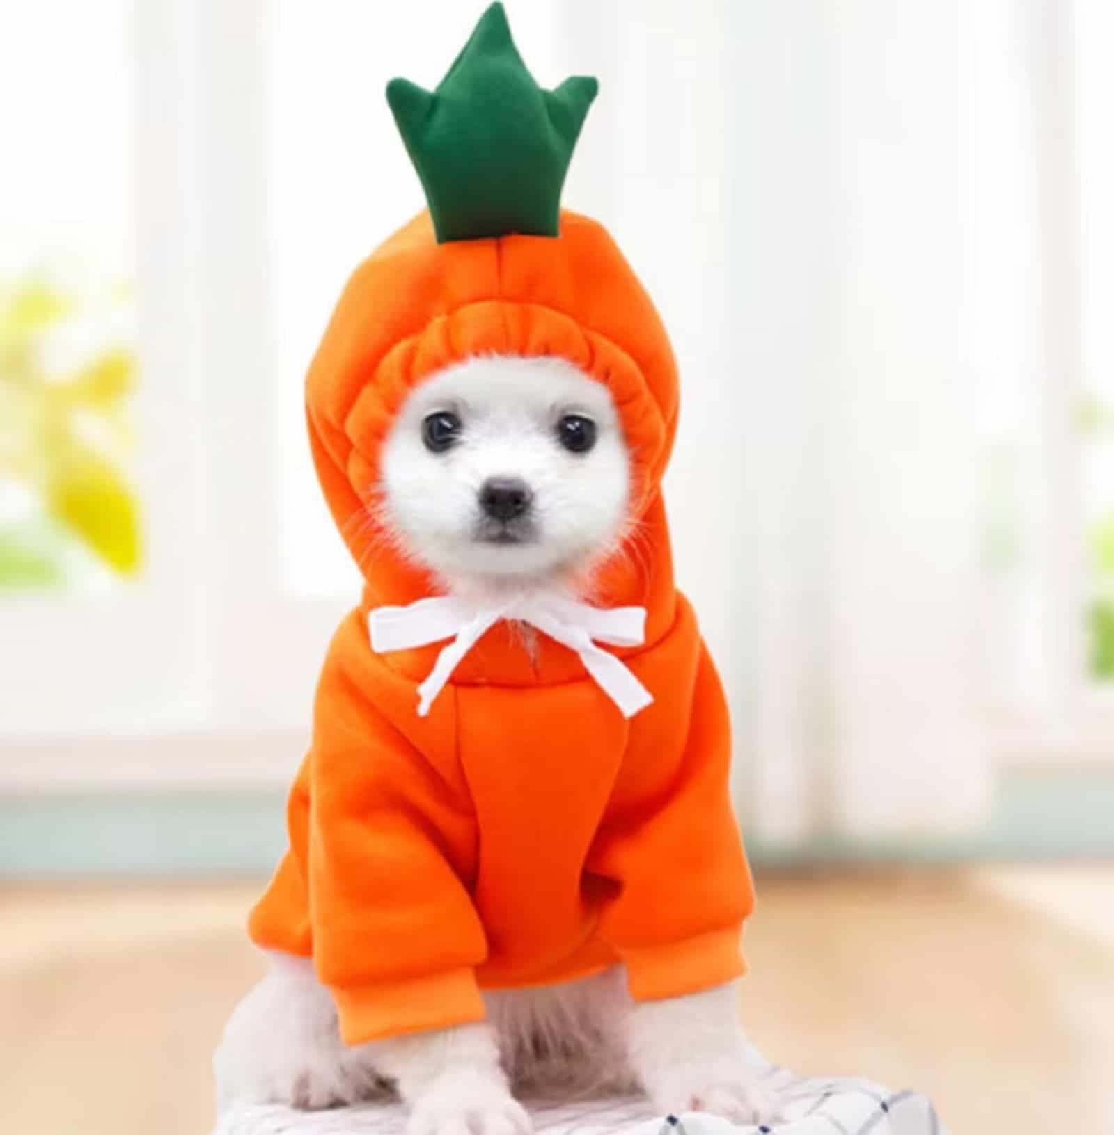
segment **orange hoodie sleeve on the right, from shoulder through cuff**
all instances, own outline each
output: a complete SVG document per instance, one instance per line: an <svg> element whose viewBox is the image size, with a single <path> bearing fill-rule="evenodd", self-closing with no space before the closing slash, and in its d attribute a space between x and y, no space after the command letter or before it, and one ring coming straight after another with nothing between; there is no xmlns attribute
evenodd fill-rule
<svg viewBox="0 0 1114 1135"><path fill-rule="evenodd" d="M639 777L593 849L592 869L618 884L601 932L637 1000L695 993L746 968L742 927L754 891L731 808L727 705L703 641L696 647L687 730L677 745L668 725L640 734L645 751L629 753L628 767L654 775ZM660 698L653 708L670 717L685 707Z"/></svg>

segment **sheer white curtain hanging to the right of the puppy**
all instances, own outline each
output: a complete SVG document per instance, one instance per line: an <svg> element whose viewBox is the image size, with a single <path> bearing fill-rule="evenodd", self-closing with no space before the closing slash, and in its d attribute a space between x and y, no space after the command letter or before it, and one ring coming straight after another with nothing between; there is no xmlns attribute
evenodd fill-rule
<svg viewBox="0 0 1114 1135"><path fill-rule="evenodd" d="M971 831L992 767L966 17L604 10L563 6L569 61L603 78L586 152L610 151L569 200L617 232L680 356L678 572L730 691L747 831Z"/></svg>

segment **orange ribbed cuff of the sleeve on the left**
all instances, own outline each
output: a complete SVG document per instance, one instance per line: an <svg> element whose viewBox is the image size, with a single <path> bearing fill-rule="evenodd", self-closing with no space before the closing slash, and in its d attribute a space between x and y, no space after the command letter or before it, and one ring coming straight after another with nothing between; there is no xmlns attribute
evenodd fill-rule
<svg viewBox="0 0 1114 1135"><path fill-rule="evenodd" d="M470 968L430 977L333 989L345 1044L366 1044L484 1019L484 1002Z"/></svg>

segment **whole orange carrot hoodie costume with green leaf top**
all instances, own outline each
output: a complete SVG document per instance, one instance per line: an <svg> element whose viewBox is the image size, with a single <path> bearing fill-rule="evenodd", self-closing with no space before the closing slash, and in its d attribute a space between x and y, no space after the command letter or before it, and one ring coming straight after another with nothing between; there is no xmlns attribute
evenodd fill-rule
<svg viewBox="0 0 1114 1135"><path fill-rule="evenodd" d="M476 98L493 89L499 99ZM727 711L673 586L659 488L675 361L608 233L556 212L594 94L579 78L541 91L499 5L435 94L395 81L392 109L433 216L357 269L310 369L318 474L366 586L329 648L290 850L250 932L313 959L350 1044L479 1019L480 989L618 961L638 999L744 968L753 890L729 800ZM446 188L476 169L497 183L492 194ZM493 208L516 176L517 193ZM495 216L512 205L510 222ZM480 353L561 356L619 407L642 523L637 550L602 569L596 599L645 608L645 641L609 650L653 698L637 712L576 650L542 633L528 651L505 621L464 653L427 716L417 688L444 644L372 649L369 615L436 589L353 518L407 394Z"/></svg>

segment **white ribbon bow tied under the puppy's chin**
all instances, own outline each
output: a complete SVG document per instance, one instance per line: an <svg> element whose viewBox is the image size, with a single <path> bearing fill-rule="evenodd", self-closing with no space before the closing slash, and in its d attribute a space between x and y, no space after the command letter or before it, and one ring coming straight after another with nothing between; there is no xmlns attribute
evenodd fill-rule
<svg viewBox="0 0 1114 1135"><path fill-rule="evenodd" d="M605 609L554 597L517 599L496 607L474 607L446 595L418 599L405 607L377 607L368 616L368 629L371 649L376 654L452 639L418 687L418 716L425 717L460 659L501 619L529 623L570 650L576 650L585 670L614 701L623 717L633 717L654 700L650 690L613 654L593 641L598 639L612 646L642 646L646 637L645 607Z"/></svg>

